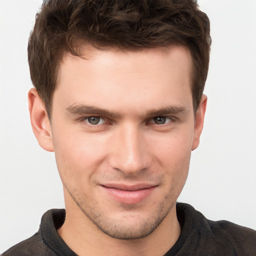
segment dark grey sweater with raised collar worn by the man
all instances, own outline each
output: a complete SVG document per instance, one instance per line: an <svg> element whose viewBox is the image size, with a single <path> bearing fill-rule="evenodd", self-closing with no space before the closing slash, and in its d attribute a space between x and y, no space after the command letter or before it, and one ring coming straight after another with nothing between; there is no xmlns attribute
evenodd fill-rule
<svg viewBox="0 0 256 256"><path fill-rule="evenodd" d="M177 203L181 233L166 256L255 256L256 231L229 221L211 221L186 203ZM46 211L38 232L12 246L2 256L75 256L58 235L65 220L64 209Z"/></svg>

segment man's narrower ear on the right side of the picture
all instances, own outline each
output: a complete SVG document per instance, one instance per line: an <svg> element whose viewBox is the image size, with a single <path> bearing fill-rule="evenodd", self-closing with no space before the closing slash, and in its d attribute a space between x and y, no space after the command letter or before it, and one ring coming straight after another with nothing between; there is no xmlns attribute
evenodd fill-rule
<svg viewBox="0 0 256 256"><path fill-rule="evenodd" d="M194 150L195 148L197 148L200 142L200 135L203 128L206 104L207 104L207 96L203 94L201 97L200 103L197 107L197 110L195 112L194 136L193 136L193 143L192 143L191 150Z"/></svg>

